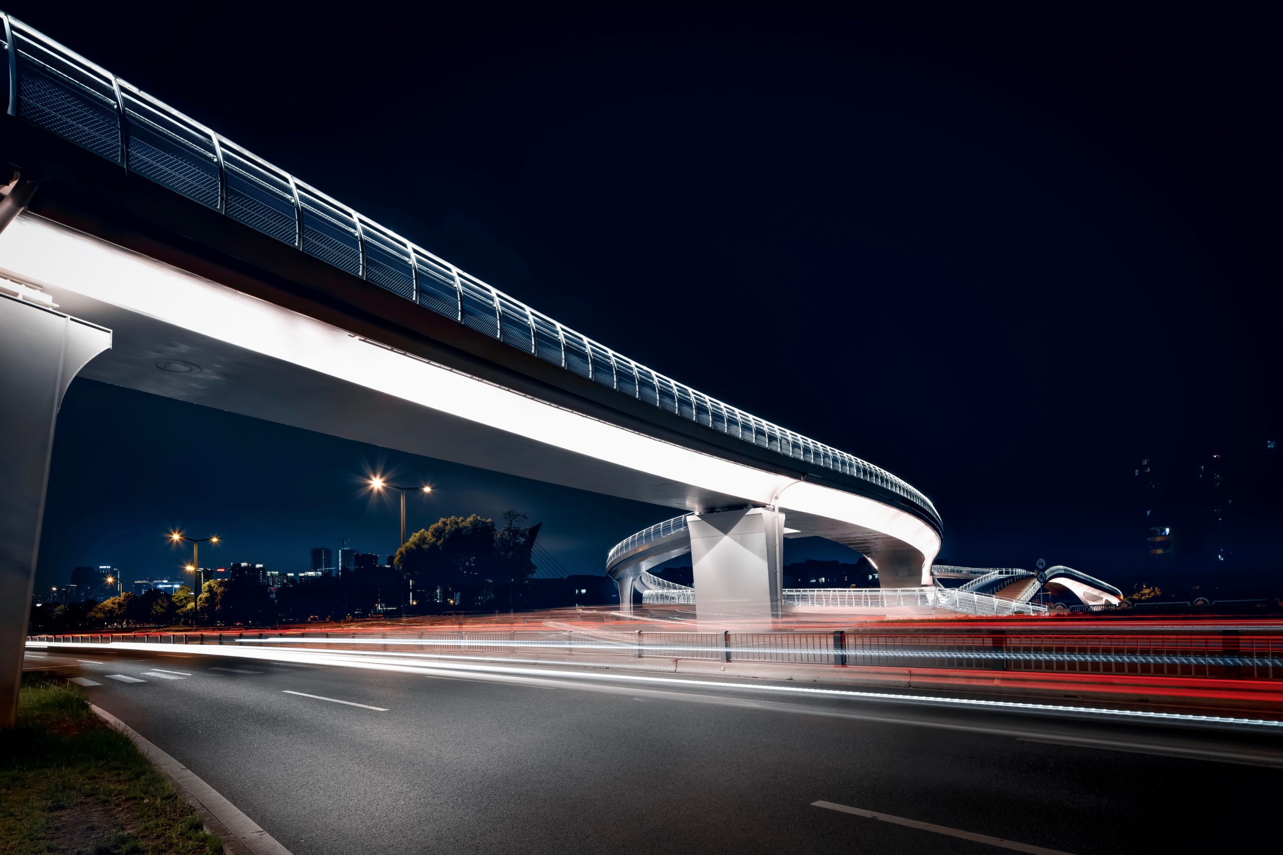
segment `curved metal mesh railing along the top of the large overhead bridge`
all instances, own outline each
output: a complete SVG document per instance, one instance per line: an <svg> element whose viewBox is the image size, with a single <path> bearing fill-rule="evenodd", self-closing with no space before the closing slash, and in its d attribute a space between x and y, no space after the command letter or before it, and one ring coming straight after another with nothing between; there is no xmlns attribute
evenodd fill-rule
<svg viewBox="0 0 1283 855"><path fill-rule="evenodd" d="M458 269L396 232L0 13L9 115L425 309L690 422L876 485L937 527L920 491L854 455L703 395Z"/></svg>

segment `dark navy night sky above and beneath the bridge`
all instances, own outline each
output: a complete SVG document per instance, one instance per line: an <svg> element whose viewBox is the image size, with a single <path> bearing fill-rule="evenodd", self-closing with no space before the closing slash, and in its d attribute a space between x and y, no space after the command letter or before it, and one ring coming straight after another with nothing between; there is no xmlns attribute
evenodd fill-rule
<svg viewBox="0 0 1283 855"><path fill-rule="evenodd" d="M946 520L942 561L1161 581L1133 470L1221 454L1216 569L1273 578L1265 12L263 5L9 10L580 332L905 477ZM218 529L228 560L386 552L393 514L352 482L380 460L441 483L416 519L517 508L575 570L670 515L81 381L42 582L150 573L169 524Z"/></svg>

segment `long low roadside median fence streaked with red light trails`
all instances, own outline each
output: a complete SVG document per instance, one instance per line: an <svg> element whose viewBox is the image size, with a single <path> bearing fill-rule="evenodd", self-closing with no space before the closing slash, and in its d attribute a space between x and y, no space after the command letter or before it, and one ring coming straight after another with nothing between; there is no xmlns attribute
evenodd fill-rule
<svg viewBox="0 0 1283 855"><path fill-rule="evenodd" d="M167 643L364 650L548 663L570 658L715 659L1014 672L1283 679L1283 635L1023 631L887 632L189 632L30 636L30 643ZM622 661L622 660L620 660Z"/></svg>

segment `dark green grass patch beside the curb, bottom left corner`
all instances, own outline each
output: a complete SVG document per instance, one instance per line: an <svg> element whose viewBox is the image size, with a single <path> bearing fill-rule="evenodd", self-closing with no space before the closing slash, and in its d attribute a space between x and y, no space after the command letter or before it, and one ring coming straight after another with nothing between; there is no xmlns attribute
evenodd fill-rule
<svg viewBox="0 0 1283 855"><path fill-rule="evenodd" d="M92 831L89 831L90 827ZM208 855L222 841L69 686L30 681L18 724L0 731L0 852Z"/></svg>

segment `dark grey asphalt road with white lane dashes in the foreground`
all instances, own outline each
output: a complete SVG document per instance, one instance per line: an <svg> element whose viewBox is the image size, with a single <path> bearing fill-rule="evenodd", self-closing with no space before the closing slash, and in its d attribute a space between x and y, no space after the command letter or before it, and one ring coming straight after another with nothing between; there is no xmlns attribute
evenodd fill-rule
<svg viewBox="0 0 1283 855"><path fill-rule="evenodd" d="M1236 851L1283 784L1283 735L571 668L65 655L295 855L1010 851L815 801L1074 855Z"/></svg>

